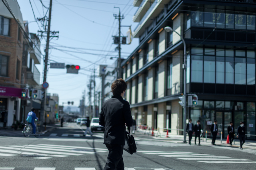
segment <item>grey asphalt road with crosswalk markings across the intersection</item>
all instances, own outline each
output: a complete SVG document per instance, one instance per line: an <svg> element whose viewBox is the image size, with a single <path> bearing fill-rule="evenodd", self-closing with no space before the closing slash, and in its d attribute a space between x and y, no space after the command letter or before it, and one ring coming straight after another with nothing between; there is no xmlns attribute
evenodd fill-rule
<svg viewBox="0 0 256 170"><path fill-rule="evenodd" d="M108 150L103 133L65 123L35 138L0 137L0 170L103 170ZM256 150L198 146L134 135L137 153L124 151L126 170L255 170Z"/></svg>

